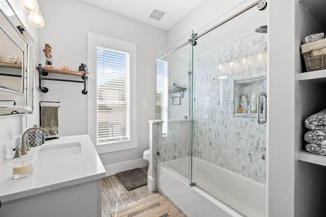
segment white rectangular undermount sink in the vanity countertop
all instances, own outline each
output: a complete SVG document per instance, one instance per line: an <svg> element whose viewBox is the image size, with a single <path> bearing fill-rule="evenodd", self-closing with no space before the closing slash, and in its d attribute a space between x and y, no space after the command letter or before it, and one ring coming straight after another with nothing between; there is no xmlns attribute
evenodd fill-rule
<svg viewBox="0 0 326 217"><path fill-rule="evenodd" d="M44 160L72 156L80 153L82 153L82 146L80 145L80 142L72 142L41 146L40 149L33 155L34 160Z"/></svg>

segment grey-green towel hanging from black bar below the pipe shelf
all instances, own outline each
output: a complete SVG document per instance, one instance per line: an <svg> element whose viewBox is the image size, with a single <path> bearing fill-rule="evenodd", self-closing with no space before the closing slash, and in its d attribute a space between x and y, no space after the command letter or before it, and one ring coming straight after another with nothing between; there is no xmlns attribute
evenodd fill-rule
<svg viewBox="0 0 326 217"><path fill-rule="evenodd" d="M58 106L41 106L41 127L45 128L51 137L59 136Z"/></svg>

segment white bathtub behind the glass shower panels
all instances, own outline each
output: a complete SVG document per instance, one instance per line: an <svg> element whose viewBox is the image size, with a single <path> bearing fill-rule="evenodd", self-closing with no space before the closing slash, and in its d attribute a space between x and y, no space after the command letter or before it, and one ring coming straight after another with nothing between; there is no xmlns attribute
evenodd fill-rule
<svg viewBox="0 0 326 217"><path fill-rule="evenodd" d="M188 157L157 165L157 189L188 217L266 216L265 184L193 157L190 187L188 165Z"/></svg>

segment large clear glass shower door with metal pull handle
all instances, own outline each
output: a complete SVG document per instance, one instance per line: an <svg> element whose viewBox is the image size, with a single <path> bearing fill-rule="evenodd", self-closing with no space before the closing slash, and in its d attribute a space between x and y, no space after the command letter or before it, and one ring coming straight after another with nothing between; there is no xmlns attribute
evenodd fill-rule
<svg viewBox="0 0 326 217"><path fill-rule="evenodd" d="M194 46L193 182L246 216L266 215L266 23L254 7Z"/></svg>

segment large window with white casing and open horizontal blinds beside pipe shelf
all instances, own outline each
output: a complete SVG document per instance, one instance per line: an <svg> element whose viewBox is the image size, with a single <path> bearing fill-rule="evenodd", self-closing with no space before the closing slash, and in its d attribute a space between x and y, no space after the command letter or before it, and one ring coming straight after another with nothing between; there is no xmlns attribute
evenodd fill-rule
<svg viewBox="0 0 326 217"><path fill-rule="evenodd" d="M87 133L97 153L138 148L137 45L87 33Z"/></svg>

